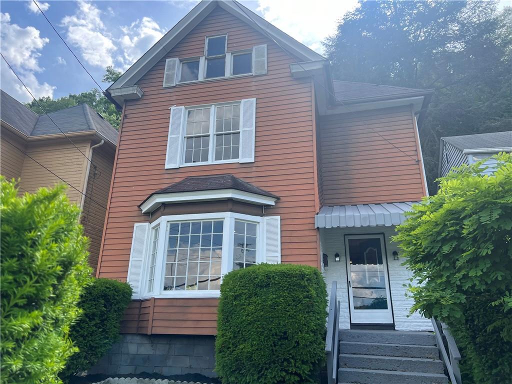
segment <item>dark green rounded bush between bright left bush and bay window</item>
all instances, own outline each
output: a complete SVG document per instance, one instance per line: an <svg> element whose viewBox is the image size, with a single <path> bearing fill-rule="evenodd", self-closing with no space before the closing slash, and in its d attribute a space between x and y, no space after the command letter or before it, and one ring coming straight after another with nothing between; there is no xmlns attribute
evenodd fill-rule
<svg viewBox="0 0 512 384"><path fill-rule="evenodd" d="M62 376L94 366L119 338L124 310L132 300L132 287L117 280L94 279L80 297L82 310L71 327L70 338L79 351L68 360Z"/></svg>

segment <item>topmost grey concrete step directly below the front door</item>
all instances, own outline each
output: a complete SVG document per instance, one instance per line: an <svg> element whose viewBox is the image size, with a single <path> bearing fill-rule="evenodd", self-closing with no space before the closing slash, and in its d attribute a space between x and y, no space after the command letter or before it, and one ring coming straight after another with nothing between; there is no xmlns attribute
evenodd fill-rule
<svg viewBox="0 0 512 384"><path fill-rule="evenodd" d="M420 331L342 329L339 331L339 339L343 342L359 343L436 345L436 338L432 332Z"/></svg>

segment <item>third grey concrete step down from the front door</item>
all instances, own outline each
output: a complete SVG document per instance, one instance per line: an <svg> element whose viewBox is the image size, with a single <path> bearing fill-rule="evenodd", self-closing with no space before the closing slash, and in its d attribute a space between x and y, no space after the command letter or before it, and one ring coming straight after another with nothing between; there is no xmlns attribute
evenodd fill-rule
<svg viewBox="0 0 512 384"><path fill-rule="evenodd" d="M380 369L383 371L444 373L441 360L417 357L339 355L339 368Z"/></svg>

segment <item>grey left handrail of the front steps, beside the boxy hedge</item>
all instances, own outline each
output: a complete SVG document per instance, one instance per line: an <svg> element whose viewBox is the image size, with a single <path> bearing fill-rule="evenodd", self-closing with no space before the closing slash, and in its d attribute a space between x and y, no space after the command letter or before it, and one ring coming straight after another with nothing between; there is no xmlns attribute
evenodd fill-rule
<svg viewBox="0 0 512 384"><path fill-rule="evenodd" d="M329 313L327 316L327 334L325 351L327 352L327 382L335 384L338 376L338 347L339 347L339 301L336 297L337 283L331 286L329 296Z"/></svg>

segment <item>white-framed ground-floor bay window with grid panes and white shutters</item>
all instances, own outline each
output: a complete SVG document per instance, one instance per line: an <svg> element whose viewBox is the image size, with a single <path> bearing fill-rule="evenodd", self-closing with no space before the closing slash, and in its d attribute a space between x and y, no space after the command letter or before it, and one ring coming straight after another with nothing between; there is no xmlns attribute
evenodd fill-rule
<svg viewBox="0 0 512 384"><path fill-rule="evenodd" d="M281 262L280 230L279 216L219 212L160 217L148 229L147 246L132 245L131 254L145 256L140 275L132 273L129 283L141 287L136 298L218 297L229 271Z"/></svg>

